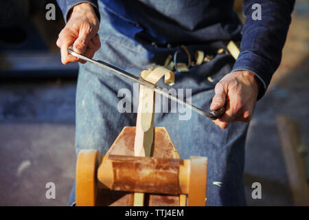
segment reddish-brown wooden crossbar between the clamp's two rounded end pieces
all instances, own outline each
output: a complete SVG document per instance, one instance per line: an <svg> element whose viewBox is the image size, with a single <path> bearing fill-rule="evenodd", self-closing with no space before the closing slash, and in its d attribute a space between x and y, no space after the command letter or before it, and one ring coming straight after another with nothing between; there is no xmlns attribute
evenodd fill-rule
<svg viewBox="0 0 309 220"><path fill-rule="evenodd" d="M189 173L179 178L179 170L189 165L178 158L105 155L98 168L99 186L116 191L186 194L182 190L187 189Z"/></svg>

